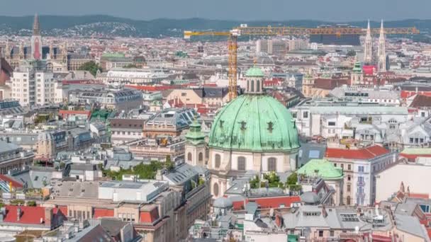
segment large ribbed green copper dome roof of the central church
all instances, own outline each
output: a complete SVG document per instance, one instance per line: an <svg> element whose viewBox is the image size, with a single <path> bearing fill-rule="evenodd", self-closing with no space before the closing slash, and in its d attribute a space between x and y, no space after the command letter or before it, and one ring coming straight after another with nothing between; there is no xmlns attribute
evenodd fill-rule
<svg viewBox="0 0 431 242"><path fill-rule="evenodd" d="M220 110L208 145L237 151L296 151L300 147L289 110L270 96L249 94Z"/></svg>

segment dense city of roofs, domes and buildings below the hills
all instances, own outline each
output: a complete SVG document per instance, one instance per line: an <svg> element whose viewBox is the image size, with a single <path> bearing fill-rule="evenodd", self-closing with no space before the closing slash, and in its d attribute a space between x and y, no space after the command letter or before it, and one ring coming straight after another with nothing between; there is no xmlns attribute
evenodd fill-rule
<svg viewBox="0 0 431 242"><path fill-rule="evenodd" d="M0 35L1 242L431 241L417 26L45 36L44 17Z"/></svg>

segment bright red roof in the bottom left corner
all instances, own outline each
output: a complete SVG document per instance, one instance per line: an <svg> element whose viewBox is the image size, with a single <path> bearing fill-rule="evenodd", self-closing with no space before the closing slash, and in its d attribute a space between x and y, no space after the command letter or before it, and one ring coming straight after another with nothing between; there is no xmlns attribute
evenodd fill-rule
<svg viewBox="0 0 431 242"><path fill-rule="evenodd" d="M28 207L6 205L6 216L3 221L6 223L18 224L40 224L40 219L45 221L45 207ZM17 209L21 208L21 218L18 221Z"/></svg>

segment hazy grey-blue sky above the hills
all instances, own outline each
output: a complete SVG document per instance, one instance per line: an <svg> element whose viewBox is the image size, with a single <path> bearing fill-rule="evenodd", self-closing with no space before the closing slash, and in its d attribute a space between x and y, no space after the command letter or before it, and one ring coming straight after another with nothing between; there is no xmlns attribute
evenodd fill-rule
<svg viewBox="0 0 431 242"><path fill-rule="evenodd" d="M0 15L89 15L150 20L362 21L430 19L431 0L2 0Z"/></svg>

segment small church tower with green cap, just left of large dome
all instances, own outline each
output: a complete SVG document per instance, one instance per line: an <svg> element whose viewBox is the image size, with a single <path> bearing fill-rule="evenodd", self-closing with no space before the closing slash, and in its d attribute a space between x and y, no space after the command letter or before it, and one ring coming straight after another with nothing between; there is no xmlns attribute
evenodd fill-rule
<svg viewBox="0 0 431 242"><path fill-rule="evenodd" d="M201 132L201 125L194 120L186 134L186 163L191 166L205 166L206 142L205 134Z"/></svg>

